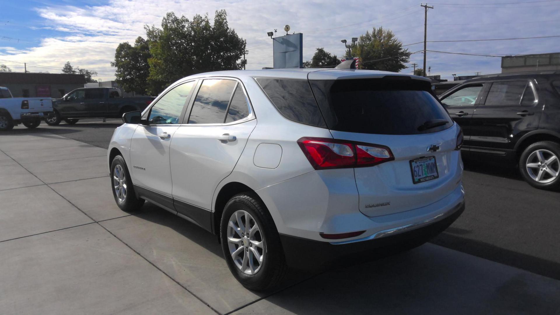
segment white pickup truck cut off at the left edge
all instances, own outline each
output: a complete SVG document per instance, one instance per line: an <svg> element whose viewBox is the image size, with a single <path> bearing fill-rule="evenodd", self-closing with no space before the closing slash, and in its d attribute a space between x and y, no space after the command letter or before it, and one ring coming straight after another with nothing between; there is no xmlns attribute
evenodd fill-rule
<svg viewBox="0 0 560 315"><path fill-rule="evenodd" d="M11 130L20 123L35 128L52 115L51 98L14 98L7 87L0 86L0 131Z"/></svg>

